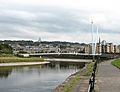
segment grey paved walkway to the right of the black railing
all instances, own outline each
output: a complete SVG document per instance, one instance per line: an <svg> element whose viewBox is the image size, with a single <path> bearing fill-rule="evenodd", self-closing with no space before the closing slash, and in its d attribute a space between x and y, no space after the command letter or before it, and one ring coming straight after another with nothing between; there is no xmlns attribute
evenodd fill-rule
<svg viewBox="0 0 120 92"><path fill-rule="evenodd" d="M99 64L99 92L120 92L120 70L111 65L111 61Z"/></svg>

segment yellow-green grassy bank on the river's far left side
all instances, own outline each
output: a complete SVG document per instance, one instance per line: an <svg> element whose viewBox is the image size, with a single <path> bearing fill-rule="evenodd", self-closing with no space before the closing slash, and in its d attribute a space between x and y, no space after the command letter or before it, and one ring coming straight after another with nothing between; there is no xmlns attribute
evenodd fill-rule
<svg viewBox="0 0 120 92"><path fill-rule="evenodd" d="M43 58L37 58L37 57L17 57L12 54L8 55L0 55L0 63L11 63L11 62L39 62L43 61Z"/></svg>

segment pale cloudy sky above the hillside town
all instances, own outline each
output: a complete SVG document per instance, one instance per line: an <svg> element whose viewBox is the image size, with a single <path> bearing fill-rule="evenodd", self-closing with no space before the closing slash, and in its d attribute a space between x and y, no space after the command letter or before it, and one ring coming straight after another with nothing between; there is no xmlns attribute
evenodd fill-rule
<svg viewBox="0 0 120 92"><path fill-rule="evenodd" d="M0 0L0 40L119 44L119 0ZM97 32L98 28L98 32Z"/></svg>

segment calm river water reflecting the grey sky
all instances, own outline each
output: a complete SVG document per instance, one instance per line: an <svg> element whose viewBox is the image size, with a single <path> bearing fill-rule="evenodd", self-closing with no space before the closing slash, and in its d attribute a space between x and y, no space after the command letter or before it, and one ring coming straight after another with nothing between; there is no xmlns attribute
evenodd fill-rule
<svg viewBox="0 0 120 92"><path fill-rule="evenodd" d="M0 92L52 92L84 63L52 62L46 65L0 67Z"/></svg>

